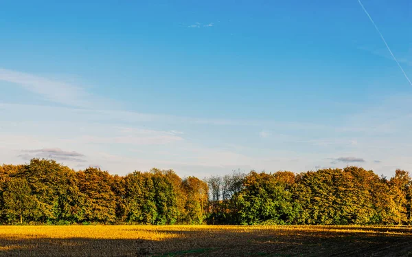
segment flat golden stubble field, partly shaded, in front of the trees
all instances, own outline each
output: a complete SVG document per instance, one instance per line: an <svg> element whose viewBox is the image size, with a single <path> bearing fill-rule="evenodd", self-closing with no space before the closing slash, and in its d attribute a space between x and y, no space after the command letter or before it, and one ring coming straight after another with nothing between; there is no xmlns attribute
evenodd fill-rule
<svg viewBox="0 0 412 257"><path fill-rule="evenodd" d="M1 226L0 256L412 256L412 227Z"/></svg>

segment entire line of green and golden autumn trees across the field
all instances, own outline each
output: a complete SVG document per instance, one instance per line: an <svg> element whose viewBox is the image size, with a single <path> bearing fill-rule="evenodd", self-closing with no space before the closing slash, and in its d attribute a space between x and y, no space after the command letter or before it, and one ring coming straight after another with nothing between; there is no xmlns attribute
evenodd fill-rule
<svg viewBox="0 0 412 257"><path fill-rule="evenodd" d="M51 159L0 166L3 224L410 225L411 204L404 170L390 179L356 166L181 179L157 168L75 171Z"/></svg>

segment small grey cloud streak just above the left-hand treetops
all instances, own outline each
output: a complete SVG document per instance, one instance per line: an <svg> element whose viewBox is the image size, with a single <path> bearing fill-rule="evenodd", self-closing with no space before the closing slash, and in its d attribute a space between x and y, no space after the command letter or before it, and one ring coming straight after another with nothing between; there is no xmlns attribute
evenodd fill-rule
<svg viewBox="0 0 412 257"><path fill-rule="evenodd" d="M65 151L60 148L43 148L43 149L34 149L34 150L22 150L22 155L19 157L23 159L32 159L34 157L38 158L50 158L56 159L59 161L76 161L84 162L82 153L77 153L75 151Z"/></svg>

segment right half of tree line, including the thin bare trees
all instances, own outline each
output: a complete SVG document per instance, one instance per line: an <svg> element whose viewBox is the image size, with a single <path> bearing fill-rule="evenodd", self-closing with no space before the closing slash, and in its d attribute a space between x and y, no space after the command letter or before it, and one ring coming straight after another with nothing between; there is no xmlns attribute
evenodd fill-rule
<svg viewBox="0 0 412 257"><path fill-rule="evenodd" d="M211 177L209 222L225 224L412 224L412 179L355 166L295 174L251 171Z"/></svg>

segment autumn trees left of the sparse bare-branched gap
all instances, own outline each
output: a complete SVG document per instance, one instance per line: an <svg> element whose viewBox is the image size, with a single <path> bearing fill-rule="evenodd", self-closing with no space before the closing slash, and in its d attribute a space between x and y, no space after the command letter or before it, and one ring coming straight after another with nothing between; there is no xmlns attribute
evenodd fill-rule
<svg viewBox="0 0 412 257"><path fill-rule="evenodd" d="M0 166L3 223L203 223L207 184L152 169L124 177L54 160Z"/></svg>

